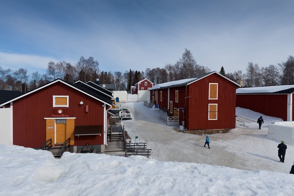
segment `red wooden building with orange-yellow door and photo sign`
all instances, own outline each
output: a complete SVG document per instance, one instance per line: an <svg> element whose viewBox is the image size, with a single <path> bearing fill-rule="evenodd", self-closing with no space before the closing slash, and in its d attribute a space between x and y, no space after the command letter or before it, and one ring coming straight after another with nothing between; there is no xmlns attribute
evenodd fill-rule
<svg viewBox="0 0 294 196"><path fill-rule="evenodd" d="M104 152L113 97L101 88L56 79L2 103L12 109L11 144L38 149L70 138L71 152L87 143Z"/></svg>

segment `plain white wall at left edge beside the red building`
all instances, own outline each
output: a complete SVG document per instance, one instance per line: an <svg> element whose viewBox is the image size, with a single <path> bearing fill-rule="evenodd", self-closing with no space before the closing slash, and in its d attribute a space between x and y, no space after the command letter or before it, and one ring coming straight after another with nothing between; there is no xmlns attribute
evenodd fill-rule
<svg viewBox="0 0 294 196"><path fill-rule="evenodd" d="M12 108L0 108L0 144L12 144Z"/></svg>

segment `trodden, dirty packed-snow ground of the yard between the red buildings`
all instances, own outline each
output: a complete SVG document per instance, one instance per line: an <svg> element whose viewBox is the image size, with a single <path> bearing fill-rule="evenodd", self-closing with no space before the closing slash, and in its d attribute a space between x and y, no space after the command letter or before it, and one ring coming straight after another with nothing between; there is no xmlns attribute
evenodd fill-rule
<svg viewBox="0 0 294 196"><path fill-rule="evenodd" d="M237 124L237 128L229 133L210 135L211 149L204 147L205 135L179 133L173 127L167 126L160 120L162 111L152 110L142 102L123 103L133 113L133 120L124 120L125 130L132 141L138 136L139 142L147 142L152 149L151 158L159 161L177 161L219 165L244 170L268 170L289 173L293 165L293 146L288 145L285 163L279 162L278 144L266 138L268 124L278 121L278 118L263 119L265 124L261 130L258 123L244 123L247 127ZM237 113L251 117L257 121L259 113L236 108ZM254 115L253 115L254 113ZM268 121L269 120L269 121ZM286 144L287 145L287 144Z"/></svg>

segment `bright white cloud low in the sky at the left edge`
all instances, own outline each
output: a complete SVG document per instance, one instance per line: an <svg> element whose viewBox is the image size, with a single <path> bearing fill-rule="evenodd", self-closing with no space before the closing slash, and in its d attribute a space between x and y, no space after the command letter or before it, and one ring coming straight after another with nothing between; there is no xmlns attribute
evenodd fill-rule
<svg viewBox="0 0 294 196"><path fill-rule="evenodd" d="M6 68L31 67L46 69L49 61L57 62L59 60L48 56L0 52L1 66Z"/></svg>

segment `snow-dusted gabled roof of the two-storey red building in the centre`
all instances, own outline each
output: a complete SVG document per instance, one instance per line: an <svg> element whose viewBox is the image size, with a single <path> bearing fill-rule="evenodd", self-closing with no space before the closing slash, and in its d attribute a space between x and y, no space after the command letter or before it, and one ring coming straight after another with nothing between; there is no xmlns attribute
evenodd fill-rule
<svg viewBox="0 0 294 196"><path fill-rule="evenodd" d="M213 73L216 73L216 74L224 77L225 79L235 83L234 81L230 80L229 78L226 78L225 76L221 75L220 73L218 73L216 71L212 71L209 73L204 73L204 74L201 74L198 76L193 76L193 77L182 79L182 80L176 80L176 81L166 82L166 83L162 83L162 84L156 84L152 88L150 88L149 91L156 90L156 89L162 89L162 88L171 88L171 87L176 87L176 86L186 86L186 85L189 85L193 82L196 82L202 78L205 78L206 76L209 76ZM235 83L235 84L237 86L240 86L238 83Z"/></svg>

